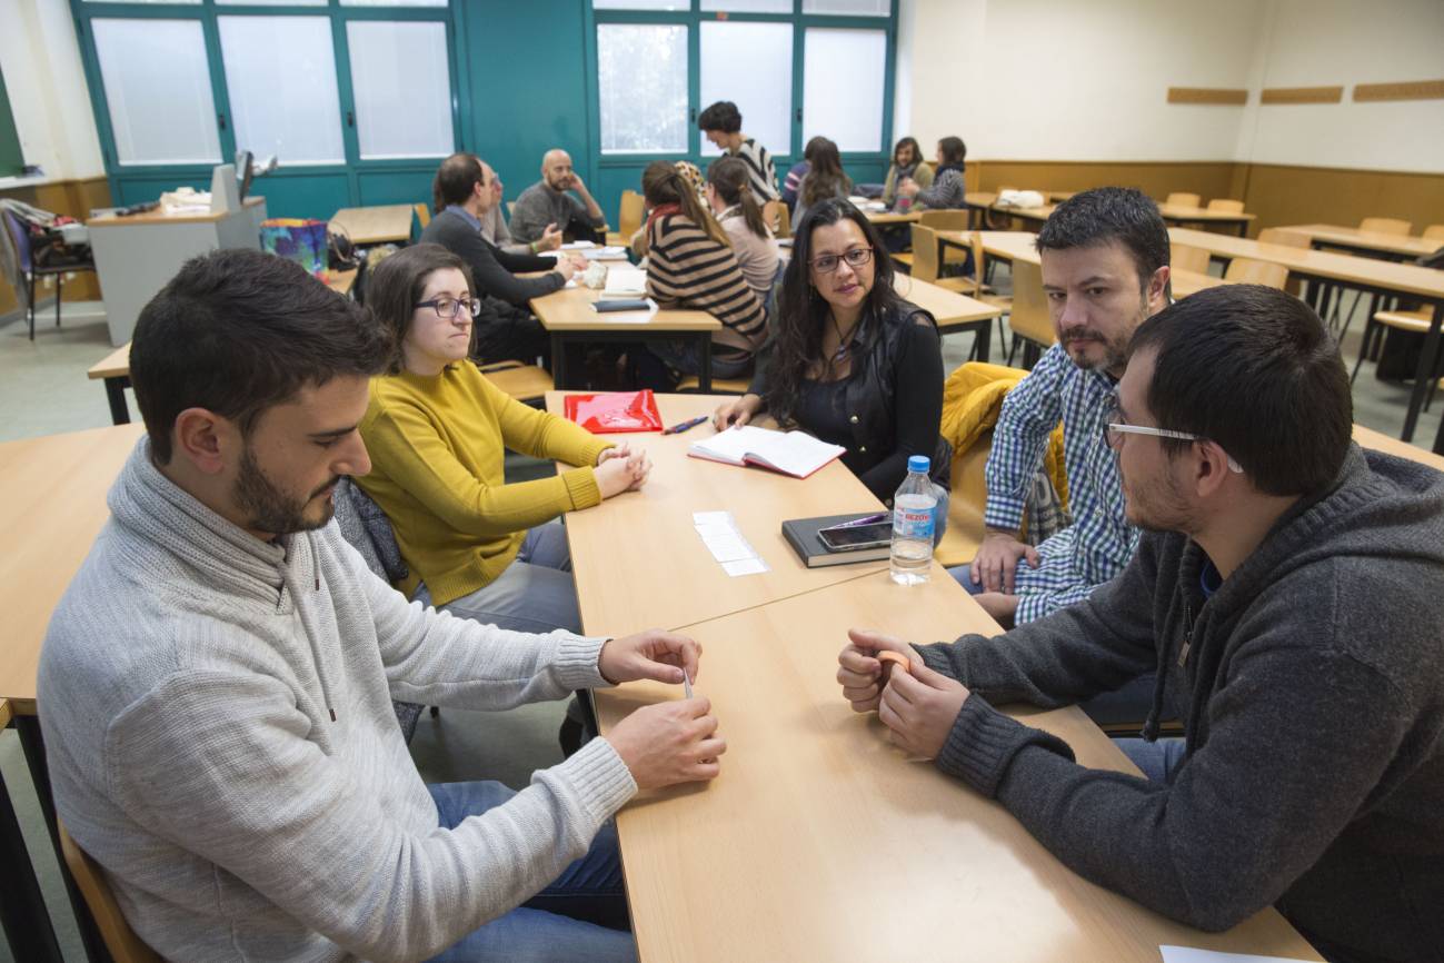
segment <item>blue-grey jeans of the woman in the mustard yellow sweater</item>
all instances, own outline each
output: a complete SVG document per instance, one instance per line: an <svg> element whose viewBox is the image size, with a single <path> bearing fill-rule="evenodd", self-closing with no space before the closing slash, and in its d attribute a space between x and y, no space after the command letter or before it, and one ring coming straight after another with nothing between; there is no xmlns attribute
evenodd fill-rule
<svg viewBox="0 0 1444 963"><path fill-rule="evenodd" d="M432 603L432 593L425 585L417 586L412 598L423 605ZM554 628L580 632L582 614L576 606L566 528L560 521L531 528L517 557L501 575L471 595L438 608L458 618L518 632L550 632Z"/></svg>

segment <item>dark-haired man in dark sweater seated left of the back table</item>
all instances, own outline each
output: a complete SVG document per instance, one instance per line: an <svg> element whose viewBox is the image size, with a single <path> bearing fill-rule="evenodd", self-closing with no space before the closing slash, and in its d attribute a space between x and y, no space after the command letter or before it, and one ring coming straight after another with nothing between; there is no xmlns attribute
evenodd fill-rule
<svg viewBox="0 0 1444 963"><path fill-rule="evenodd" d="M481 235L481 221L497 204L491 166L477 154L458 153L442 162L432 182L436 217L422 231L422 244L440 244L471 267L481 313L472 326L472 357L485 361L534 362L547 358L547 335L531 316L533 297L560 290L583 264L567 254L508 254ZM546 271L539 277L520 273Z"/></svg>

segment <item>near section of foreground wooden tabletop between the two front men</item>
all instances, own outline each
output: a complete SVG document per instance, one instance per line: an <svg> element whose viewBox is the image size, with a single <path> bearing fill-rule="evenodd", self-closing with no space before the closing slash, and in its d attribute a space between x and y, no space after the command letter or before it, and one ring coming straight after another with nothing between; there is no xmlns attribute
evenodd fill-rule
<svg viewBox="0 0 1444 963"><path fill-rule="evenodd" d="M1160 944L1320 959L1272 908L1206 934L1086 882L1001 806L908 759L838 687L859 625L917 641L996 631L937 565L921 586L871 573L686 629L728 752L710 784L617 816L643 960L1157 963ZM602 729L680 696L598 690ZM1083 765L1138 772L1076 707L1012 715Z"/></svg>

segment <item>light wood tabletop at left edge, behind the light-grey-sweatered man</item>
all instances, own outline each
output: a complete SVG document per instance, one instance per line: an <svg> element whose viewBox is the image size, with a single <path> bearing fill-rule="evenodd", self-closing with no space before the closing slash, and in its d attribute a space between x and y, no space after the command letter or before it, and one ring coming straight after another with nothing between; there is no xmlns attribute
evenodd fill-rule
<svg viewBox="0 0 1444 963"><path fill-rule="evenodd" d="M110 517L105 494L144 427L121 424L0 445L0 699L35 715L51 612Z"/></svg>

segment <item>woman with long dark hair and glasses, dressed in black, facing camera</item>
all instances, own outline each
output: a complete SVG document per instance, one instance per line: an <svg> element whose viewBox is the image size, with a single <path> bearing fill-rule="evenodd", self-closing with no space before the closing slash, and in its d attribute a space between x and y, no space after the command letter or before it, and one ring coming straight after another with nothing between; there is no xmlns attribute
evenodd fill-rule
<svg viewBox="0 0 1444 963"><path fill-rule="evenodd" d="M855 206L822 201L797 227L775 336L748 393L721 406L715 426L767 411L842 445L842 462L882 501L907 476L910 455L933 459L933 481L946 487L936 321L894 290L877 228Z"/></svg>

